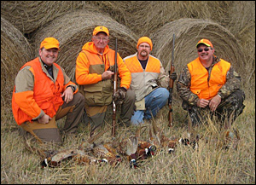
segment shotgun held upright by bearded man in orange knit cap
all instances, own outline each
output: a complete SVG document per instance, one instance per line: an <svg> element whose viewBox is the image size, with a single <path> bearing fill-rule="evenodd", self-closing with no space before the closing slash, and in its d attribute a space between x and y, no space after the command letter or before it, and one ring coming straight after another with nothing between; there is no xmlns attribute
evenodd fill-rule
<svg viewBox="0 0 256 185"><path fill-rule="evenodd" d="M169 116L168 116L168 120L169 120L169 127L172 127L172 89L173 89L173 79L171 78L171 74L172 72L174 72L174 42L175 42L175 34L173 34L173 38L172 38L172 61L171 61L171 70L169 71L169 77L170 77L170 82L169 82L169 100L168 100L168 105L169 105Z"/></svg>

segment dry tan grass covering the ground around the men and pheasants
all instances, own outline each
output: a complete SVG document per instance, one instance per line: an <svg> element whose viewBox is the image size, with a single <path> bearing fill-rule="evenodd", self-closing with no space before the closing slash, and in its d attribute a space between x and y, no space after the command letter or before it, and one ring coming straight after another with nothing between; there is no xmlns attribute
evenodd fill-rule
<svg viewBox="0 0 256 185"><path fill-rule="evenodd" d="M63 163L59 168L41 169L37 154L24 147L22 137L15 128L1 127L1 183L255 183L255 100L246 101L244 113L236 119L241 141L237 150L224 150L221 127L209 120L209 125L198 128L202 139L199 150L178 145L174 154L165 150L141 164L139 169L130 169L127 163L116 168L110 165L75 165ZM156 123L163 127L166 136L186 136L185 112L174 103L174 127L167 127L167 107L158 114ZM11 119L3 119L9 122ZM111 120L109 120L111 123ZM5 124L7 125L7 124ZM17 126L16 126L17 128ZM131 130L135 130L132 127ZM79 126L76 140L67 139L62 149L78 147L82 138L88 138L88 128ZM117 130L120 131L120 130ZM108 140L110 130L101 139ZM147 131L143 137L147 137ZM216 142L217 141L217 142ZM220 147L219 147L220 146Z"/></svg>

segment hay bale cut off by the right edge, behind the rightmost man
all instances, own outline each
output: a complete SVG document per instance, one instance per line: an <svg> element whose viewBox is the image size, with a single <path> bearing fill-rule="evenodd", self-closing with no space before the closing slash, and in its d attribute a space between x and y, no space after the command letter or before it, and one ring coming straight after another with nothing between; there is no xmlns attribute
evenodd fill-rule
<svg viewBox="0 0 256 185"><path fill-rule="evenodd" d="M226 27L241 43L246 55L243 63L247 84L251 83L250 88L255 91L255 1L236 1L230 11L230 22Z"/></svg>

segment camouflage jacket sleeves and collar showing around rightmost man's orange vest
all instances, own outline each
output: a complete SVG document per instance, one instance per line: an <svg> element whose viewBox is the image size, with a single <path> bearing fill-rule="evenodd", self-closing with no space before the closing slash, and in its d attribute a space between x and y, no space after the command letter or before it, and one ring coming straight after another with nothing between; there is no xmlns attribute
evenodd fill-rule
<svg viewBox="0 0 256 185"><path fill-rule="evenodd" d="M219 57L213 56L212 65L209 67L208 72L212 71L212 66L219 61ZM210 75L209 75L210 76ZM177 93L186 101L190 106L195 106L199 97L190 91L191 75L188 66L184 66L178 80L177 80ZM231 93L241 89L241 77L235 72L234 68L230 66L230 70L226 75L226 83L218 90L221 99L228 97Z"/></svg>

